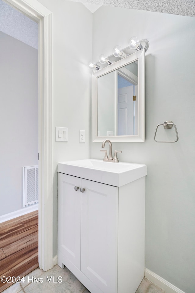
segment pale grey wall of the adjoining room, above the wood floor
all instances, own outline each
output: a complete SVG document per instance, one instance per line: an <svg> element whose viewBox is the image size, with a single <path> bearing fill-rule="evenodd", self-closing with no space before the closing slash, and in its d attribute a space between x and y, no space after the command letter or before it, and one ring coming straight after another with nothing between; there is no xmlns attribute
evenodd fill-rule
<svg viewBox="0 0 195 293"><path fill-rule="evenodd" d="M0 31L0 64L1 216L23 208L23 166L38 165L38 51Z"/></svg>

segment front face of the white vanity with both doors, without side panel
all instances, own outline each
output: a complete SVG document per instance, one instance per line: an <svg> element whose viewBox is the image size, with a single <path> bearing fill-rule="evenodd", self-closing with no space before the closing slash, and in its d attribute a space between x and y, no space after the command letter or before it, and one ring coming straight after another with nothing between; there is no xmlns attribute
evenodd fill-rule
<svg viewBox="0 0 195 293"><path fill-rule="evenodd" d="M102 292L117 292L118 187L62 173L58 180L58 250Z"/></svg>

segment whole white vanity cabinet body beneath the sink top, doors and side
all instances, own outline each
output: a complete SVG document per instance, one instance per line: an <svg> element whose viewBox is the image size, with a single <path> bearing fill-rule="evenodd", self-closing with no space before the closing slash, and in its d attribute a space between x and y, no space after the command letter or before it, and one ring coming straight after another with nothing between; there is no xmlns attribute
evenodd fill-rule
<svg viewBox="0 0 195 293"><path fill-rule="evenodd" d="M145 176L117 187L58 172L58 264L91 293L135 293L144 219Z"/></svg>

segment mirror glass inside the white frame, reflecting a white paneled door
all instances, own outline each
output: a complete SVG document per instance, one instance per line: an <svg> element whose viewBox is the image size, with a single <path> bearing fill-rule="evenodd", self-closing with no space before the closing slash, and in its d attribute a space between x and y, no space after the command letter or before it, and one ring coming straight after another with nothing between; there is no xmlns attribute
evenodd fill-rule
<svg viewBox="0 0 195 293"><path fill-rule="evenodd" d="M137 61L97 79L97 136L137 135Z"/></svg>

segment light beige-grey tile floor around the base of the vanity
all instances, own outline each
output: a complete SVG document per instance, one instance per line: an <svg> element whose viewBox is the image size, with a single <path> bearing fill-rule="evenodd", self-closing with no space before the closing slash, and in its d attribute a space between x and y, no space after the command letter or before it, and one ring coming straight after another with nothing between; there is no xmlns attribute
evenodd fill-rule
<svg viewBox="0 0 195 293"><path fill-rule="evenodd" d="M46 282L47 277L55 277L56 283ZM57 277L62 277L62 282L57 282ZM31 279L34 277L34 281ZM36 278L36 279L35 279ZM37 282L37 278L42 278L43 283ZM61 279L59 279L60 281ZM67 269L61 269L58 265L44 272L42 269L35 269L32 273L24 277L24 282L13 284L3 291L3 293L90 293L87 288ZM112 293L112 292L111 292ZM149 280L143 279L136 293L166 293Z"/></svg>

